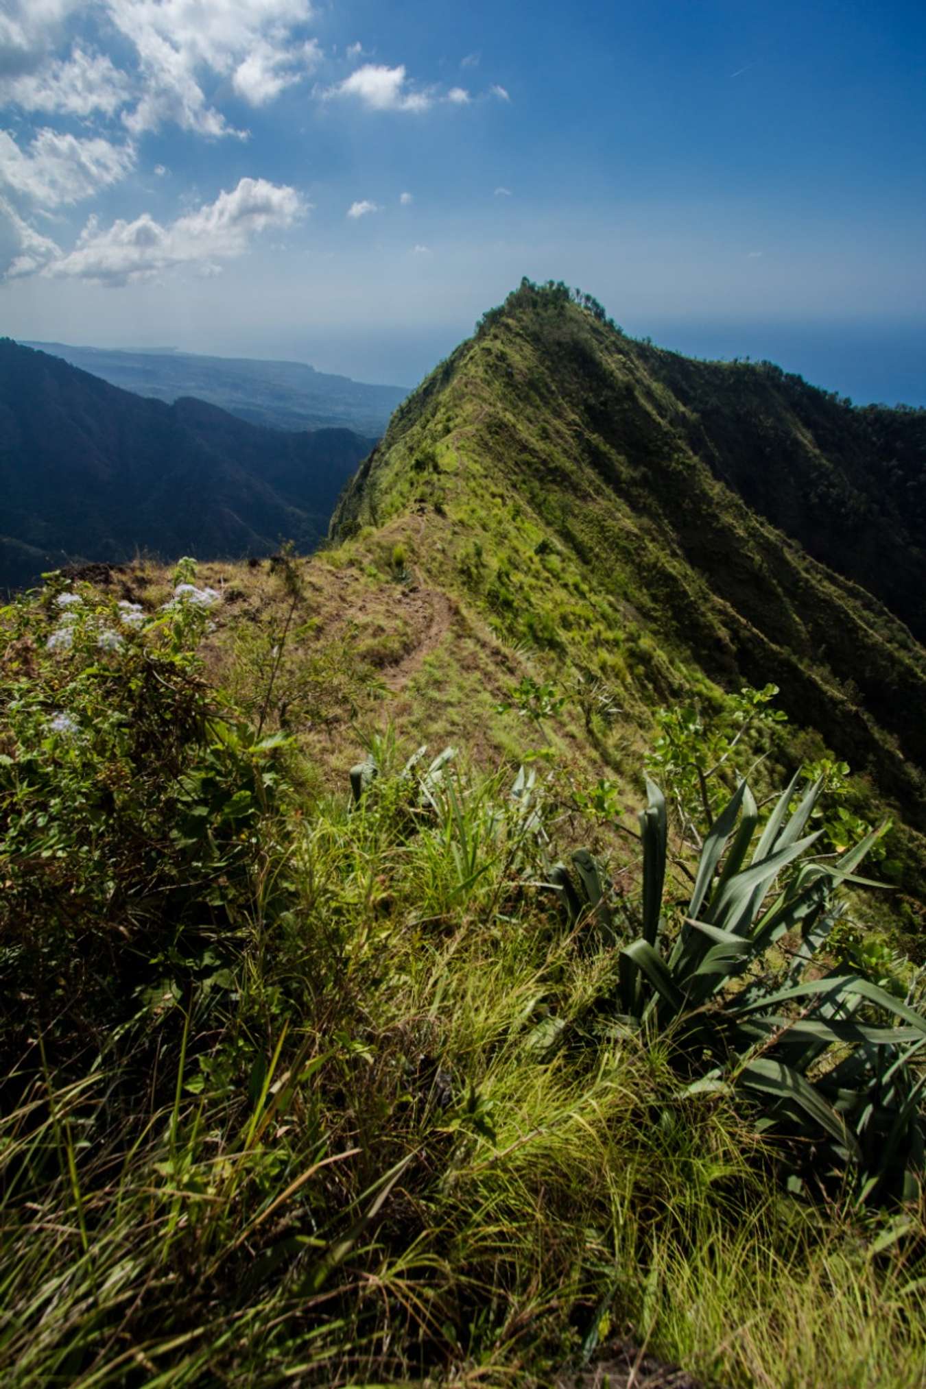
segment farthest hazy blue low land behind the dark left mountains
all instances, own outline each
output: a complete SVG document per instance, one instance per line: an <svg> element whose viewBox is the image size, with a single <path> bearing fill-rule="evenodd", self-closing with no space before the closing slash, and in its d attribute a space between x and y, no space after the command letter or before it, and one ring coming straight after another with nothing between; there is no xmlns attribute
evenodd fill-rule
<svg viewBox="0 0 926 1389"><path fill-rule="evenodd" d="M353 429L378 438L407 396L403 386L368 386L316 371L302 361L200 357L170 349L110 351L42 342L24 346L63 357L72 367L139 396L168 404L181 396L196 396L273 429Z"/></svg>

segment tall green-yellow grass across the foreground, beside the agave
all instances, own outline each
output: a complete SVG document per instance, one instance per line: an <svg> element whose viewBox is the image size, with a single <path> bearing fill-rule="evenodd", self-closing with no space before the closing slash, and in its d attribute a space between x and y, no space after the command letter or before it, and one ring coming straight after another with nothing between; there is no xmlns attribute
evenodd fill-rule
<svg viewBox="0 0 926 1389"><path fill-rule="evenodd" d="M729 1389L926 1383L922 1200L783 1195L741 1101L595 1011L616 951L510 774L384 761L254 864L221 971L11 1068L3 1382L544 1385L633 1335Z"/></svg>

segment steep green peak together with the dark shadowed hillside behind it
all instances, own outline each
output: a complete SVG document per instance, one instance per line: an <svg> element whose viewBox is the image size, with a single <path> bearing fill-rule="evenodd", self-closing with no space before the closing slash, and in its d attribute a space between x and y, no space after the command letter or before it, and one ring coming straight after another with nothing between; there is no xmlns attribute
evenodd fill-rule
<svg viewBox="0 0 926 1389"><path fill-rule="evenodd" d="M445 514L421 568L553 672L651 708L685 697L679 660L773 681L923 829L925 449L923 411L692 363L524 283L396 411L332 538Z"/></svg>

